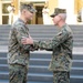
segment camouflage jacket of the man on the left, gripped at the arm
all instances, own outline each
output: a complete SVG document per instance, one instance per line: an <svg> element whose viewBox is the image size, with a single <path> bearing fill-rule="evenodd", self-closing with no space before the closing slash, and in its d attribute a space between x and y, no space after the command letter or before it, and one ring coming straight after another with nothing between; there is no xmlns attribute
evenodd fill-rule
<svg viewBox="0 0 83 83"><path fill-rule="evenodd" d="M29 37L29 28L18 19L11 27L9 33L8 63L28 65L30 51L33 51L33 45L24 45L21 43L22 38Z"/></svg>

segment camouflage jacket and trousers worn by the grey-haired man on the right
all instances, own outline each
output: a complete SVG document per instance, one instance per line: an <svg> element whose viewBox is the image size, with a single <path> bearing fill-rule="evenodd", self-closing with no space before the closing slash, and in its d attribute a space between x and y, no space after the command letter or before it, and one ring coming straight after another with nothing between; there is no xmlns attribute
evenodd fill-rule
<svg viewBox="0 0 83 83"><path fill-rule="evenodd" d="M49 65L49 70L53 71L54 74L53 83L69 83L68 73L70 72L72 65L73 48L73 33L70 27L64 24L61 31L52 40L40 41L39 48L46 51L53 51L52 60ZM58 77L56 74L62 77ZM65 75L68 76L68 80L63 82L62 79L64 80Z"/></svg>

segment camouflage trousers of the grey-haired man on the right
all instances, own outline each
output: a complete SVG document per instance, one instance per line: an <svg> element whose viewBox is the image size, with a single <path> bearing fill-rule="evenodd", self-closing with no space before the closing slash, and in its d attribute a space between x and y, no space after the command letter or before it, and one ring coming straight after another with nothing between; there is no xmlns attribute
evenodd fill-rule
<svg viewBox="0 0 83 83"><path fill-rule="evenodd" d="M70 72L54 71L53 83L70 83Z"/></svg>

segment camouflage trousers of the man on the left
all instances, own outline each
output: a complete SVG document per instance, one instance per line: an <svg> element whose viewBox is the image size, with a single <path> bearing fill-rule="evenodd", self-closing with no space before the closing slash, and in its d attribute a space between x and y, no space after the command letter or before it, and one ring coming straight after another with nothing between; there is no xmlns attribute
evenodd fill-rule
<svg viewBox="0 0 83 83"><path fill-rule="evenodd" d="M9 83L27 83L28 69L24 65L9 65Z"/></svg>

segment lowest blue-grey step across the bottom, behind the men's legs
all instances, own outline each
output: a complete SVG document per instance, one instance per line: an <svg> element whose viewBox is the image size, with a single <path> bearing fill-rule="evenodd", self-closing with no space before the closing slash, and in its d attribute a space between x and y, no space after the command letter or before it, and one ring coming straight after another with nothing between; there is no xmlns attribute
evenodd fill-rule
<svg viewBox="0 0 83 83"><path fill-rule="evenodd" d="M9 73L6 73L6 72L0 73L0 79L1 80L9 80ZM29 79L29 81L34 81L34 82L35 81L37 82L52 82L53 75L52 74L29 73L28 79ZM83 75L71 75L71 82L72 81L74 83L82 83L83 82Z"/></svg>

